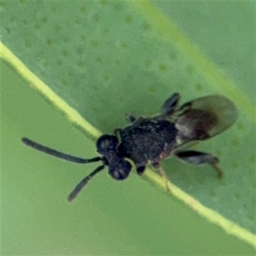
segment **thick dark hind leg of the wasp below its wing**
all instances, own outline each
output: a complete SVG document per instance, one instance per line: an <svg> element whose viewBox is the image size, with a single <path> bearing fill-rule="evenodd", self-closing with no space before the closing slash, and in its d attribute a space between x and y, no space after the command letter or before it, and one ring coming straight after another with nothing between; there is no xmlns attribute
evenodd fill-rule
<svg viewBox="0 0 256 256"><path fill-rule="evenodd" d="M216 156L212 156L209 153L198 152L193 150L182 151L175 154L179 157L182 161L190 164L210 164L214 170L216 170L218 176L220 178L223 177L222 170L218 167L218 163L220 160Z"/></svg>

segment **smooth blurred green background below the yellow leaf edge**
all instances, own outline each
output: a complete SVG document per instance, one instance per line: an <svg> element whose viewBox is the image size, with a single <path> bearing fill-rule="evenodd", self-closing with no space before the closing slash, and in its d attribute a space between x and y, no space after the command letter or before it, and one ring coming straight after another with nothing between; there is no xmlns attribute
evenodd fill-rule
<svg viewBox="0 0 256 256"><path fill-rule="evenodd" d="M84 157L95 156L93 142L3 62L1 75L2 255L255 255L134 174L116 182L103 172L68 204L95 164L45 156L20 138Z"/></svg>

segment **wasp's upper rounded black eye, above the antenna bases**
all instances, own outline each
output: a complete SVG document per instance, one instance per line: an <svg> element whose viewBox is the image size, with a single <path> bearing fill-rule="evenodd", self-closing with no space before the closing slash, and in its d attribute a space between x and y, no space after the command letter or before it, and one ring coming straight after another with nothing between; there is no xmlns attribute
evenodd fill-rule
<svg viewBox="0 0 256 256"><path fill-rule="evenodd" d="M106 154L109 150L115 150L118 147L118 139L114 135L104 134L97 140L96 147L99 154Z"/></svg>

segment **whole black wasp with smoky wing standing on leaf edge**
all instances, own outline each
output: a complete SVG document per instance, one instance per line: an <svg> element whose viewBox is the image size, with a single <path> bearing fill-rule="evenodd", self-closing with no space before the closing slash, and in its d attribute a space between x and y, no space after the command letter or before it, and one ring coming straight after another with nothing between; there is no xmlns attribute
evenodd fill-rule
<svg viewBox="0 0 256 256"><path fill-rule="evenodd" d="M101 161L102 165L86 176L68 196L68 201L77 194L96 173L108 166L109 175L115 180L124 180L131 172L130 159L136 171L142 175L147 164L158 169L166 180L160 163L164 158L176 156L190 164L210 164L221 177L222 172L217 164L219 159L212 154L185 150L192 144L207 140L225 131L234 124L237 109L227 98L210 95L186 102L179 107L180 95L173 93L163 104L160 113L152 117L139 117L127 114L129 125L124 129L115 129L114 134L104 134L96 142L100 156L82 159L45 147L28 138L22 141L29 147L40 150L51 156L75 163L92 163ZM166 188L167 181L166 181Z"/></svg>

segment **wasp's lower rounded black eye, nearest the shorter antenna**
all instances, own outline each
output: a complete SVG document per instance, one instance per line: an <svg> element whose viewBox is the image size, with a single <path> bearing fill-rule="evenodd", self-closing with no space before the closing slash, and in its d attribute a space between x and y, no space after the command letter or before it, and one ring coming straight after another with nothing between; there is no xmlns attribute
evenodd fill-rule
<svg viewBox="0 0 256 256"><path fill-rule="evenodd" d="M132 166L128 161L122 160L109 166L109 175L115 180L124 180L129 176Z"/></svg>

